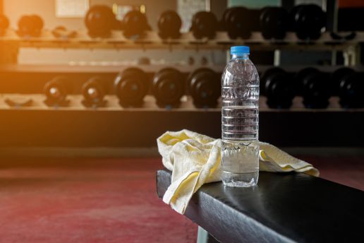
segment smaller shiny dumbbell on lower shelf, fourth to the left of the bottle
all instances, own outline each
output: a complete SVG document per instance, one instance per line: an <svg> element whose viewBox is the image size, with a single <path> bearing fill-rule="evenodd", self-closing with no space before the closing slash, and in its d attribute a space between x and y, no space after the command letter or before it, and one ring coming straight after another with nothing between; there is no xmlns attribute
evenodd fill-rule
<svg viewBox="0 0 364 243"><path fill-rule="evenodd" d="M106 104L104 96L107 93L107 85L100 77L92 77L83 83L81 93L85 107L103 107Z"/></svg>

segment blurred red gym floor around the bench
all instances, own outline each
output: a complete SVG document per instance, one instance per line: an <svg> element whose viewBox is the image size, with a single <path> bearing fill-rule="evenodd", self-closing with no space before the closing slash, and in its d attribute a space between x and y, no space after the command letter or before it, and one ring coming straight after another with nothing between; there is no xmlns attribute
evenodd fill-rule
<svg viewBox="0 0 364 243"><path fill-rule="evenodd" d="M306 158L364 190L363 158ZM0 162L0 242L195 242L197 225L157 198L159 158Z"/></svg>

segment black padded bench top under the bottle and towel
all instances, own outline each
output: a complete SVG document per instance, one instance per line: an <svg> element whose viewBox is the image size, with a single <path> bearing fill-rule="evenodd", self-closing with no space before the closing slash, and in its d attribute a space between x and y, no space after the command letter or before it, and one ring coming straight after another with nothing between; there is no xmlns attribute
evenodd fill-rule
<svg viewBox="0 0 364 243"><path fill-rule="evenodd" d="M162 198L171 172L157 172ZM364 191L298 173L260 172L257 186L203 185L186 217L220 242L364 240Z"/></svg>

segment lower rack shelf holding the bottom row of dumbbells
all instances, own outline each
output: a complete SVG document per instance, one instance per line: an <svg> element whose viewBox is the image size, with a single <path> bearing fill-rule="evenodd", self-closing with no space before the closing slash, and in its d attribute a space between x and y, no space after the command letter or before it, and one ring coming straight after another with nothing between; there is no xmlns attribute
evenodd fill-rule
<svg viewBox="0 0 364 243"><path fill-rule="evenodd" d="M158 107L155 98L152 95L145 97L145 102L142 107L121 107L116 95L106 95L104 99L107 101L104 107L85 107L82 104L82 95L68 95L68 106L66 107L48 107L44 100L45 95L42 94L0 94L0 110L17 109L20 111L25 110L39 110L39 111L100 111L100 112L214 112L221 113L221 100L219 100L217 107L210 108L197 108L193 105L192 97L185 95L181 98L181 105L178 107ZM11 107L6 103L6 100L13 100L13 103L22 103L30 101L29 105ZM327 109L307 109L303 106L302 97L295 97L293 105L290 109L271 109L266 104L267 98L260 96L260 112L364 112L361 109L343 109L339 105L339 97L331 97Z"/></svg>

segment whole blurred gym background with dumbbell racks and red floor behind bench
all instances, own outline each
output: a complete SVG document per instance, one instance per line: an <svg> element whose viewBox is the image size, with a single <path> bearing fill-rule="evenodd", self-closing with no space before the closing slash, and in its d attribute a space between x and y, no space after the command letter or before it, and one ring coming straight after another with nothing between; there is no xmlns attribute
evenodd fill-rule
<svg viewBox="0 0 364 243"><path fill-rule="evenodd" d="M260 141L364 189L364 2L0 0L0 242L195 242L159 201L156 138L221 135L229 48Z"/></svg>

